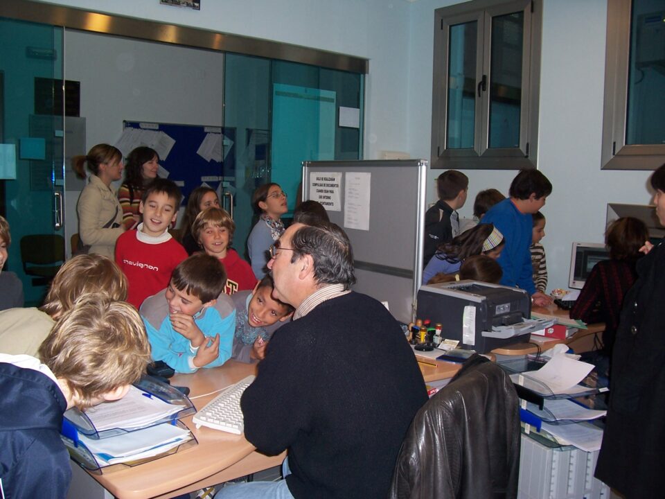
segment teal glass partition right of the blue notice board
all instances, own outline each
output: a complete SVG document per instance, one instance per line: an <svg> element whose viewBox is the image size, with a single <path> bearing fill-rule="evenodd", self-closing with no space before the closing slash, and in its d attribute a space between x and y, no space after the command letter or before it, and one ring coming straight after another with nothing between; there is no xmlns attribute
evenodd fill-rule
<svg viewBox="0 0 665 499"><path fill-rule="evenodd" d="M235 247L243 254L255 221L251 195L277 182L296 206L302 161L362 159L364 79L360 73L228 53L224 127L236 129ZM340 121L357 110L357 124ZM231 168L225 165L224 168Z"/></svg>

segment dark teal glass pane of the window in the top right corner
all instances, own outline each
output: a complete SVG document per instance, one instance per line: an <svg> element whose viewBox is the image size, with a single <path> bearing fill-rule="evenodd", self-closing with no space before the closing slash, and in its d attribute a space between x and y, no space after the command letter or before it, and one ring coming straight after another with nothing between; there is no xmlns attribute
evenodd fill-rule
<svg viewBox="0 0 665 499"><path fill-rule="evenodd" d="M634 0L630 21L630 69L626 144L665 143L665 23L661 6Z"/></svg>

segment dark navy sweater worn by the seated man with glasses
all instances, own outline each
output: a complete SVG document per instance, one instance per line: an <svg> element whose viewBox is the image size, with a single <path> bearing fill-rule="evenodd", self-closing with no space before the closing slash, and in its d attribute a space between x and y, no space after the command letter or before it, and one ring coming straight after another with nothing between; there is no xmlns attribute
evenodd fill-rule
<svg viewBox="0 0 665 499"><path fill-rule="evenodd" d="M242 396L245 437L289 450L295 498L385 498L427 392L395 319L351 292L285 324Z"/></svg>

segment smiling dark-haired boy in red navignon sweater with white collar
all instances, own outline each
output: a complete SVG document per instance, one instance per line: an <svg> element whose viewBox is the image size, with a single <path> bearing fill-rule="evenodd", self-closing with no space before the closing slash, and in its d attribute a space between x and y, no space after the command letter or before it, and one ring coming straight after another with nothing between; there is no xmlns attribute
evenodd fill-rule
<svg viewBox="0 0 665 499"><path fill-rule="evenodd" d="M116 243L116 263L127 276L127 301L137 309L147 297L166 288L171 272L187 252L168 233L178 214L182 194L171 180L157 178L143 192L143 222Z"/></svg>

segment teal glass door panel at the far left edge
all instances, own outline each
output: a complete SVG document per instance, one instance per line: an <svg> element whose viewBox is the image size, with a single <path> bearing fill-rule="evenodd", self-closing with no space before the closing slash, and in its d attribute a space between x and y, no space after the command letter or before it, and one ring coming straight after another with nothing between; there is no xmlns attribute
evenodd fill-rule
<svg viewBox="0 0 665 499"><path fill-rule="evenodd" d="M64 260L62 42L62 28L0 18L0 214L12 235L4 270L23 282L26 306L41 304Z"/></svg>

